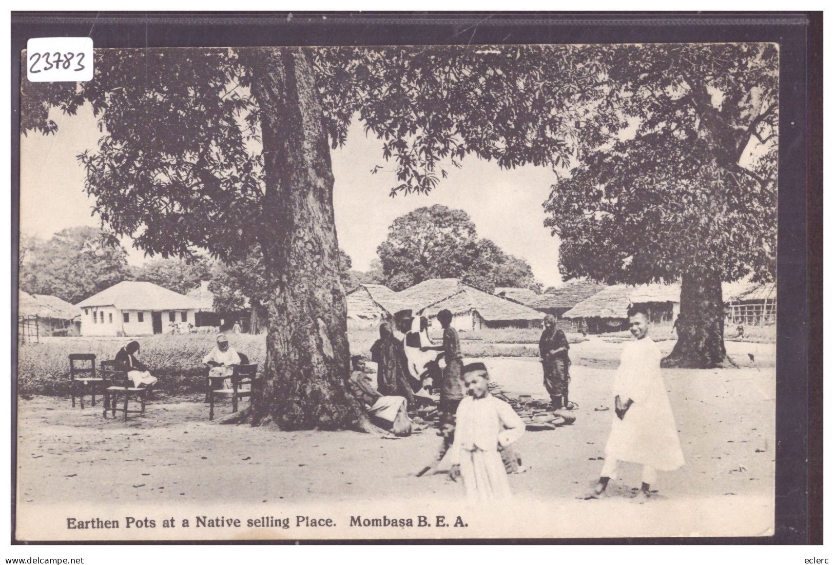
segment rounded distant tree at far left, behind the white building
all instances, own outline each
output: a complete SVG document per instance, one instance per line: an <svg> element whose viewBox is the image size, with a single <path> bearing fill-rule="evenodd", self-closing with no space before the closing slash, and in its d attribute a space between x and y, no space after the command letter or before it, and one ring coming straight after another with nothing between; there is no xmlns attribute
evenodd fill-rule
<svg viewBox="0 0 834 565"><path fill-rule="evenodd" d="M75 304L132 278L128 252L96 228L67 228L47 241L29 238L24 244L19 281L27 293Z"/></svg>

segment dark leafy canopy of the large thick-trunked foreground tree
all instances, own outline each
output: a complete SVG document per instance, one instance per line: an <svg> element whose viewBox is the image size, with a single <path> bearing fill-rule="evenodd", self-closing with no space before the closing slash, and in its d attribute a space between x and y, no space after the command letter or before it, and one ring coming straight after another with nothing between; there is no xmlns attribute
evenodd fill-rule
<svg viewBox="0 0 834 565"><path fill-rule="evenodd" d="M102 138L79 156L103 223L163 257L245 258L263 213L264 111L250 92L272 48L98 49L92 81L24 82L23 132L54 133L52 107L90 103ZM426 193L467 155L500 167L568 157L568 94L594 72L575 47L338 47L307 55L333 147L358 116L399 184Z"/></svg>

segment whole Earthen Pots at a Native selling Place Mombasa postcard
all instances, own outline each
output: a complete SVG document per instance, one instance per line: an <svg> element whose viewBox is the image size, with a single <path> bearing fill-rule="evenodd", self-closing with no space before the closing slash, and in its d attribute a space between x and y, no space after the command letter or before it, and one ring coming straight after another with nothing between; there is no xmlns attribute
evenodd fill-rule
<svg viewBox="0 0 834 565"><path fill-rule="evenodd" d="M775 43L23 67L18 540L773 535Z"/></svg>

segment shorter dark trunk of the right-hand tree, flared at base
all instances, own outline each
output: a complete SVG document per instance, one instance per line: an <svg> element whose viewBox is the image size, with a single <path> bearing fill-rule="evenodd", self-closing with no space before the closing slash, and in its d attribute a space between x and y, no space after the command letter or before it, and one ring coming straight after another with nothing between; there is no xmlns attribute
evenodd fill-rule
<svg viewBox="0 0 834 565"><path fill-rule="evenodd" d="M721 277L685 273L681 277L678 341L662 367L706 369L733 365L724 348Z"/></svg>

